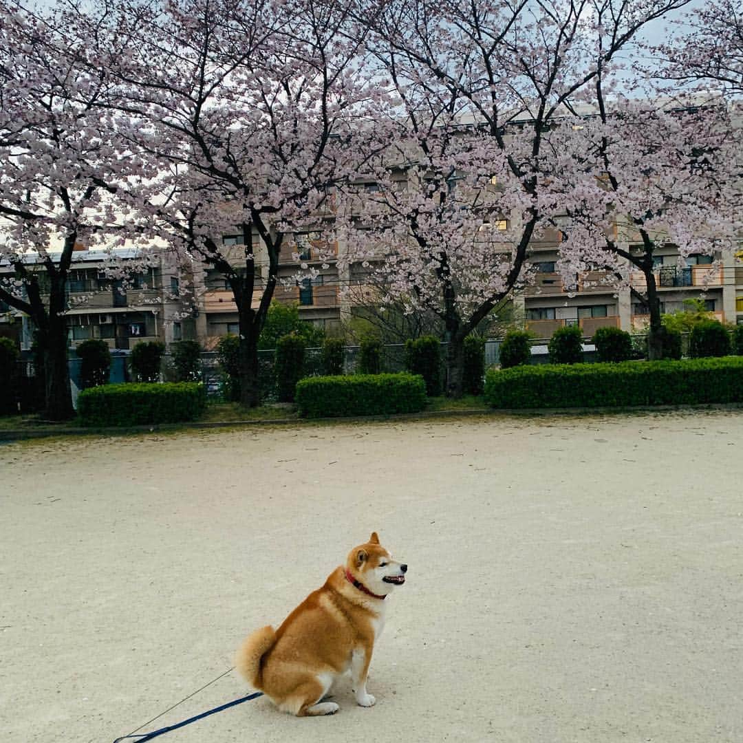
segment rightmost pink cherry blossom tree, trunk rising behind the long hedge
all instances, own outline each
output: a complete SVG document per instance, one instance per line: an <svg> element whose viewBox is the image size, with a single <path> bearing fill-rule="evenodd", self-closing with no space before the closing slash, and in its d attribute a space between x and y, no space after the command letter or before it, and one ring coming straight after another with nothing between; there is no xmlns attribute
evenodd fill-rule
<svg viewBox="0 0 743 743"><path fill-rule="evenodd" d="M657 359L663 328L655 259L671 245L683 266L688 256L713 256L735 243L743 227L741 130L719 97L702 105L698 97L609 102L600 84L597 91L597 115L563 125L586 177L566 184L558 269L568 288L595 271L604 273L594 283L629 286L649 309L649 357Z"/></svg>

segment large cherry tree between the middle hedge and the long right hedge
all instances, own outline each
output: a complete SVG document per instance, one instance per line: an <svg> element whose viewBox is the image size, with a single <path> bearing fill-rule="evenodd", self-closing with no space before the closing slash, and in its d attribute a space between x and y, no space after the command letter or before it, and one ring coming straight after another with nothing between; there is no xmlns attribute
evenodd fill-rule
<svg viewBox="0 0 743 743"><path fill-rule="evenodd" d="M595 176L559 123L595 105L600 75L620 87L644 28L687 2L357 5L374 32L369 53L398 97L390 126L400 144L374 171L359 169L357 181L383 185L349 221L358 244L382 233L383 247L358 257L382 261L374 273L389 298L444 320L447 395L461 395L464 338L525 280L529 245L577 198L565 184ZM383 166L405 173L405 191Z"/></svg>

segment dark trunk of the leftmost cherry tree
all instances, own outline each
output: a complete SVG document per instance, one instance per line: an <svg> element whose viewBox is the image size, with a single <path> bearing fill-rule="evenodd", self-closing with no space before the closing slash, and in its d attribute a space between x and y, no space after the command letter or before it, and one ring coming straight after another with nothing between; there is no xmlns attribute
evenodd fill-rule
<svg viewBox="0 0 743 743"><path fill-rule="evenodd" d="M41 330L42 359L45 378L45 417L50 421L68 421L75 415L72 407L70 368L67 361L67 323L65 310L65 277L51 276L49 310Z"/></svg>

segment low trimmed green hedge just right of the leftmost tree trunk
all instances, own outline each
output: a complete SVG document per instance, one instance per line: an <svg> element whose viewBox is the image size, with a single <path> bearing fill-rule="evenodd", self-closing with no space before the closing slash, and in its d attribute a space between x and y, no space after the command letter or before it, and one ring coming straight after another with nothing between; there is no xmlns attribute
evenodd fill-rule
<svg viewBox="0 0 743 743"><path fill-rule="evenodd" d="M83 426L137 426L194 421L207 405L207 388L195 382L123 383L91 387L77 398Z"/></svg>

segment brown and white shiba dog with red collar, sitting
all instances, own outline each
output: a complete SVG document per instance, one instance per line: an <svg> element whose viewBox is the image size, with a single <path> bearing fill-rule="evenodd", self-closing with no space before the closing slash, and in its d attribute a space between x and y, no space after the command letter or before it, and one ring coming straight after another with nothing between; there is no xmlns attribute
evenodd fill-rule
<svg viewBox="0 0 743 743"><path fill-rule="evenodd" d="M279 629L263 627L247 637L237 669L279 710L299 717L337 713L334 701L322 699L348 671L357 703L371 707L376 701L366 691L371 652L384 626L385 599L405 583L407 569L372 533Z"/></svg>

